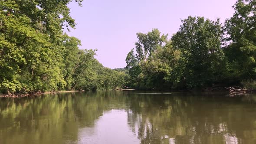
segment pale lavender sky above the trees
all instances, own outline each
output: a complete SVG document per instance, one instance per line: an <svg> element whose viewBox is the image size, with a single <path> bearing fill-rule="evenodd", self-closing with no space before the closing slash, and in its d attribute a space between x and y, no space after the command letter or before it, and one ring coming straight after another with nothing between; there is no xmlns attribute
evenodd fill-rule
<svg viewBox="0 0 256 144"><path fill-rule="evenodd" d="M81 40L80 49L98 49L96 59L105 67L124 68L128 52L135 48L136 33L158 28L176 33L181 19L204 16L223 23L230 18L236 0L84 0L82 7L69 4L76 29L67 32Z"/></svg>

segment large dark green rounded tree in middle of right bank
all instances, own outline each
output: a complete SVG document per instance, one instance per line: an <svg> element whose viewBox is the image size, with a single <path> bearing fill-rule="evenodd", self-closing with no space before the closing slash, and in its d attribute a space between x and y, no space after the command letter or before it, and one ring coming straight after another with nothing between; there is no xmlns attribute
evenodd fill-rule
<svg viewBox="0 0 256 144"><path fill-rule="evenodd" d="M182 23L171 38L174 49L181 51L180 79L190 88L210 86L219 79L224 58L219 19L189 16Z"/></svg>

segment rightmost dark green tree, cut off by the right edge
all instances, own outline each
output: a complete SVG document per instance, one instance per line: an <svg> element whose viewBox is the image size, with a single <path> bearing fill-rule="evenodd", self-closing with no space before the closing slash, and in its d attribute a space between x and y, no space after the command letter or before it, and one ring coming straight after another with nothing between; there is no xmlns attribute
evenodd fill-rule
<svg viewBox="0 0 256 144"><path fill-rule="evenodd" d="M256 0L238 0L223 27L232 78L256 79Z"/></svg>

